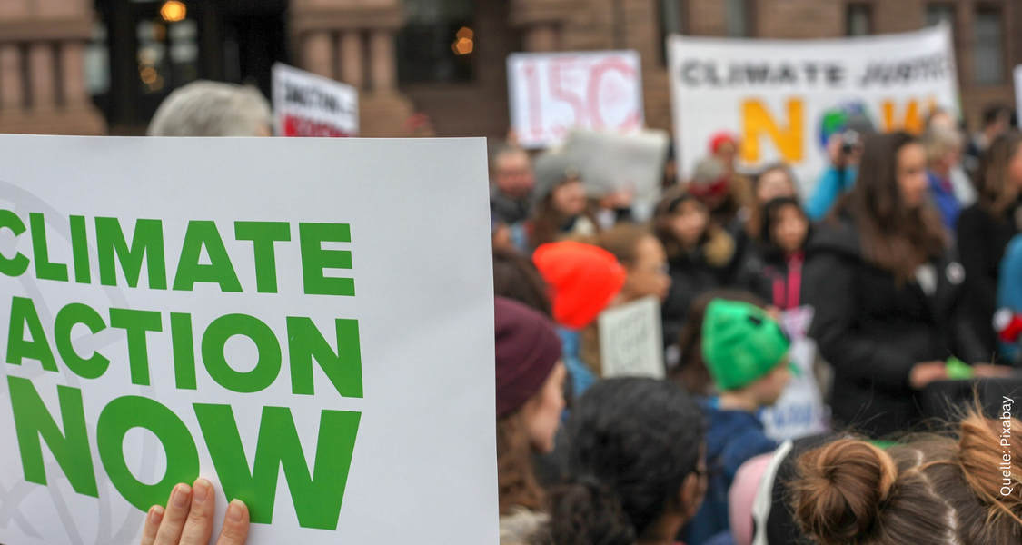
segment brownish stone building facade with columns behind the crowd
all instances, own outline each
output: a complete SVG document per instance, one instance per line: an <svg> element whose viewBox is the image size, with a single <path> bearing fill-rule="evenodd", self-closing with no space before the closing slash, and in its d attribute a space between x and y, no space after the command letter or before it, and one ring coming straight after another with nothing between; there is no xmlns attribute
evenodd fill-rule
<svg viewBox="0 0 1022 545"><path fill-rule="evenodd" d="M0 0L0 132L141 134L175 86L205 78L268 91L269 66L284 61L357 87L364 136L406 134L422 112L439 135L499 139L509 53L622 48L642 56L647 123L668 128L670 33L830 38L939 19L955 31L975 127L987 104L1014 103L1011 69L1022 63L1022 33L1012 32L1022 0L178 2L191 27L165 27L165 0ZM474 47L454 58L460 28Z"/></svg>

